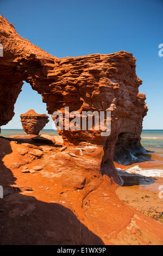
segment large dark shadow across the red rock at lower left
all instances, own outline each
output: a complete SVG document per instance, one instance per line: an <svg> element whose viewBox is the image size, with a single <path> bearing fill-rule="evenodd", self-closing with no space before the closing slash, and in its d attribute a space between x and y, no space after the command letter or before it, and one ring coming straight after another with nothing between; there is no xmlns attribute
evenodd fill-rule
<svg viewBox="0 0 163 256"><path fill-rule="evenodd" d="M104 245L70 209L20 194L10 186L16 178L4 165L3 157L11 152L10 141L0 138L0 185L4 188L4 198L0 199L0 244Z"/></svg>

